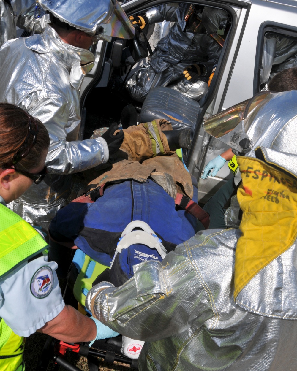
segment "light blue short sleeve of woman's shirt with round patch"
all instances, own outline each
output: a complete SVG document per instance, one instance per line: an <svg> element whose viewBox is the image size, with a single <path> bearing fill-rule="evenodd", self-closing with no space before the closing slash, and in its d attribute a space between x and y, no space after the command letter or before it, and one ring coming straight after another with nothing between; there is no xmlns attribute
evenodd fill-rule
<svg viewBox="0 0 297 371"><path fill-rule="evenodd" d="M6 206L1 196L0 203ZM19 336L33 334L65 306L56 275L58 265L48 262L46 252L40 255L0 279L0 317Z"/></svg>

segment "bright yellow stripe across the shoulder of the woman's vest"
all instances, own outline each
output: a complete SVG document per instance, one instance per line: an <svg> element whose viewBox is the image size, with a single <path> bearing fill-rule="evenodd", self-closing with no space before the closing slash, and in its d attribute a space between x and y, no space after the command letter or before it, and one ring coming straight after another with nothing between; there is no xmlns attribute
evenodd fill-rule
<svg viewBox="0 0 297 371"><path fill-rule="evenodd" d="M37 233L38 232L36 232L34 228L30 227L29 224L23 219L1 231L0 259L9 254L12 250L15 250L17 247L25 243L27 240L30 240Z"/></svg>

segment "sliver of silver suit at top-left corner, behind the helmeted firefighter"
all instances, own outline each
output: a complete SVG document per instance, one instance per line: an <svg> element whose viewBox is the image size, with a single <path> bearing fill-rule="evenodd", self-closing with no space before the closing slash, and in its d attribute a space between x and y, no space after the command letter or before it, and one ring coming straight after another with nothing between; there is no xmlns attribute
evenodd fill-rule
<svg viewBox="0 0 297 371"><path fill-rule="evenodd" d="M15 17L12 7L0 0L0 46L16 37Z"/></svg>

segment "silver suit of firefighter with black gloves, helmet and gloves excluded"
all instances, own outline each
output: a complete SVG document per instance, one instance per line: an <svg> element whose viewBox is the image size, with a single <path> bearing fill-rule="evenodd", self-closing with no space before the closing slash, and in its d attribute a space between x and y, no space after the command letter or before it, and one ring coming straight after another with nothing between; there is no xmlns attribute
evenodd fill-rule
<svg viewBox="0 0 297 371"><path fill-rule="evenodd" d="M19 38L0 51L0 101L15 104L40 119L49 131L49 174L14 203L29 222L50 221L71 190L71 175L109 157L104 139L78 141L81 115L81 62L94 55L62 42L49 25L42 35Z"/></svg>

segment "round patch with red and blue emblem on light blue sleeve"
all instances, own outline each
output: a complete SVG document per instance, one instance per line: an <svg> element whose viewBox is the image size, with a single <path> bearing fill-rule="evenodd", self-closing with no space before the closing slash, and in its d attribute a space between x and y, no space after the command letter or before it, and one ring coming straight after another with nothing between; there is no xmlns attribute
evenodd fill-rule
<svg viewBox="0 0 297 371"><path fill-rule="evenodd" d="M53 289L53 271L45 265L39 268L31 279L30 290L38 299L45 298Z"/></svg>

